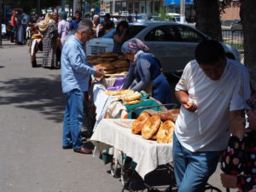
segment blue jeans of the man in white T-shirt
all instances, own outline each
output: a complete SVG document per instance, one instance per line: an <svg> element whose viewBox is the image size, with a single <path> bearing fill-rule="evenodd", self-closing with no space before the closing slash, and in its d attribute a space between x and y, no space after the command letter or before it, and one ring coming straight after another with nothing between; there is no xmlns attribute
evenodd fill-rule
<svg viewBox="0 0 256 192"><path fill-rule="evenodd" d="M173 133L172 153L178 192L204 191L217 168L221 151L191 152L183 148Z"/></svg>

